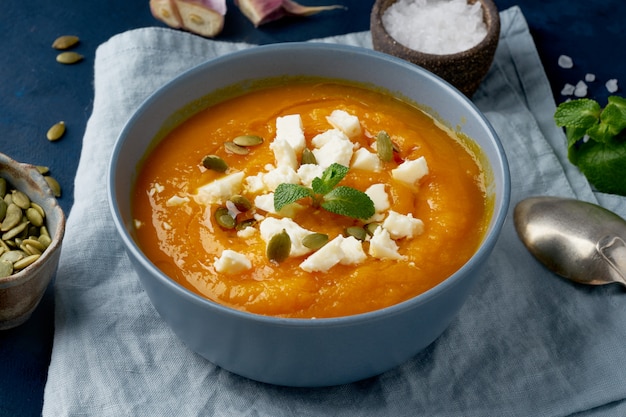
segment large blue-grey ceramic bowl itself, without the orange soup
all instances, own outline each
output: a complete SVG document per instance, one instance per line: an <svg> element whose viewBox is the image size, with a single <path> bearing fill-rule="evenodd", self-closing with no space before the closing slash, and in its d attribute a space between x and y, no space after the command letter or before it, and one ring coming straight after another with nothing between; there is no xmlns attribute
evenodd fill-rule
<svg viewBox="0 0 626 417"><path fill-rule="evenodd" d="M494 213L480 249L461 269L432 290L393 307L305 320L259 316L208 301L169 279L146 258L131 233L131 192L138 164L155 137L184 118L181 108L202 107L203 97L215 90L283 75L345 79L401 94L431 109L441 121L458 127L480 145L493 172ZM496 133L479 110L445 81L371 50L291 43L254 47L210 60L159 89L140 106L117 140L108 193L117 230L142 285L163 320L189 349L254 380L312 387L353 382L390 370L446 329L496 243L507 213L510 182Z"/></svg>

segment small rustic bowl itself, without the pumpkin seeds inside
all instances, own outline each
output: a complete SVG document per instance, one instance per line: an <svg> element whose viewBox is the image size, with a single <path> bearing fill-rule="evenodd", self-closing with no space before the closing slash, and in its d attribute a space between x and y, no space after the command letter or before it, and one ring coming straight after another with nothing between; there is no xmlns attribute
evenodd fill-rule
<svg viewBox="0 0 626 417"><path fill-rule="evenodd" d="M50 246L31 265L13 275L0 277L0 330L5 330L28 320L55 275L65 233L65 215L35 166L0 153L0 177L43 208L52 239Z"/></svg>

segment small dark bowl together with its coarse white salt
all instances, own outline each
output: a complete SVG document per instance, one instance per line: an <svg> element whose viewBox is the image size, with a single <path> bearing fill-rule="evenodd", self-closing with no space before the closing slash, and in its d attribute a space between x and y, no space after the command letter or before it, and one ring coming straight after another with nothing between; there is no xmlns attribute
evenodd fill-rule
<svg viewBox="0 0 626 417"><path fill-rule="evenodd" d="M405 59L471 96L495 54L500 16L491 0L377 0L374 49Z"/></svg>

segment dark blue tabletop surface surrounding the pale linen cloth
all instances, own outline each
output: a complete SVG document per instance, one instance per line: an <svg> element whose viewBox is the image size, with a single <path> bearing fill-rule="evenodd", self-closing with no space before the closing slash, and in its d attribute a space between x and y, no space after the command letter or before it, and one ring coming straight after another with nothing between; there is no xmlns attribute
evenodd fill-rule
<svg viewBox="0 0 626 417"><path fill-rule="evenodd" d="M225 28L217 39L267 44L369 29L373 0L301 2L341 3L348 11L289 18L255 29L229 0ZM59 201L69 214L81 141L92 109L96 48L117 33L163 25L150 14L148 0L4 0L3 4L0 152L49 166L63 188ZM626 83L624 0L496 0L496 4L500 10L518 5L524 12L557 103L564 100L560 94L563 85L575 84L586 73L596 75L588 96L601 103L608 95L606 80L623 79ZM85 56L81 63L63 66L55 62L57 51L50 45L65 34L80 37L75 50ZM561 54L574 59L574 68L558 66ZM60 120L65 121L67 133L51 143L46 131ZM51 285L28 322L0 331L0 416L41 414L53 333Z"/></svg>

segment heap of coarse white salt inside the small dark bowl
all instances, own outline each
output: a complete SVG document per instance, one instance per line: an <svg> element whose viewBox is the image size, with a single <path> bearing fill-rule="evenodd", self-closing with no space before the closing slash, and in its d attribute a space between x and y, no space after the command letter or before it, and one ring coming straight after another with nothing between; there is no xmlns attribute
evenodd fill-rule
<svg viewBox="0 0 626 417"><path fill-rule="evenodd" d="M465 51L487 35L479 1L398 0L385 10L382 21L396 41L436 55Z"/></svg>

